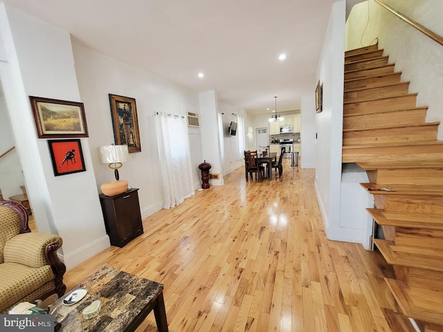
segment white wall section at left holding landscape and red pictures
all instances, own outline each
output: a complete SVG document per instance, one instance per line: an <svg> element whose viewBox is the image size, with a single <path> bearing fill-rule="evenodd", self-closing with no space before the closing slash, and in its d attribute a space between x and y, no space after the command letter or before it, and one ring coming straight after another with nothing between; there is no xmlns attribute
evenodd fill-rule
<svg viewBox="0 0 443 332"><path fill-rule="evenodd" d="M0 78L39 231L60 234L67 267L109 246L89 142L81 139L86 172L53 175L48 144L37 138L29 95L80 101L69 33L0 3L7 62Z"/></svg>

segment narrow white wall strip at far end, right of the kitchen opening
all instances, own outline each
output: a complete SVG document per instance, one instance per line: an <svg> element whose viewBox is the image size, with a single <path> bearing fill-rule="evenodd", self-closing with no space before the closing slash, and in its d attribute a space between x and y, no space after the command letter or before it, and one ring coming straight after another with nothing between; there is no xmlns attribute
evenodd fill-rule
<svg viewBox="0 0 443 332"><path fill-rule="evenodd" d="M314 88L313 88L314 89ZM316 167L316 98L314 93L305 95L300 110L301 168Z"/></svg>

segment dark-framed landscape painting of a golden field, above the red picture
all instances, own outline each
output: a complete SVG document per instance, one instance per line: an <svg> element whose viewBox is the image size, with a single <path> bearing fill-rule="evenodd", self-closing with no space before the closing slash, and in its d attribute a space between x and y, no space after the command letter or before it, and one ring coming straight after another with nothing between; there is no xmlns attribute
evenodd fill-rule
<svg viewBox="0 0 443 332"><path fill-rule="evenodd" d="M39 138L88 137L82 102L29 97Z"/></svg>

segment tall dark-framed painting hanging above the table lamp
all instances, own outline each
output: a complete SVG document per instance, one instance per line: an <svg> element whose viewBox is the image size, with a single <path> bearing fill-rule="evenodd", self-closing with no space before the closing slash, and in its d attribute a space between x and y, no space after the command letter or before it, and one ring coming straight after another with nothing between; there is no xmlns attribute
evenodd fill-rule
<svg viewBox="0 0 443 332"><path fill-rule="evenodd" d="M109 93L109 104L116 145L127 145L129 153L140 152L136 100Z"/></svg>

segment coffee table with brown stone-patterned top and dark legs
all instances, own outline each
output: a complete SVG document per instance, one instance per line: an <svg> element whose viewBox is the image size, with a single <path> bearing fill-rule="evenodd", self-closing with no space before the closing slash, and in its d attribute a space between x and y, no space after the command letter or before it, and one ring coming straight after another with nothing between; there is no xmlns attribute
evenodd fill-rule
<svg viewBox="0 0 443 332"><path fill-rule="evenodd" d="M162 284L104 266L69 293L79 288L86 289L88 293L78 303L64 305L65 296L54 303L56 318L69 313L60 331L135 331L154 310L157 329L168 332ZM85 320L83 309L96 299L101 302L100 313Z"/></svg>

